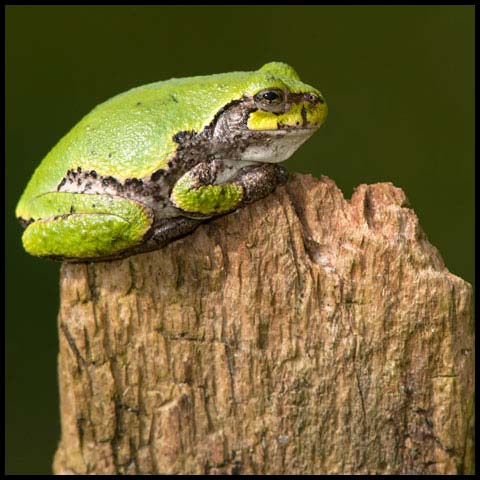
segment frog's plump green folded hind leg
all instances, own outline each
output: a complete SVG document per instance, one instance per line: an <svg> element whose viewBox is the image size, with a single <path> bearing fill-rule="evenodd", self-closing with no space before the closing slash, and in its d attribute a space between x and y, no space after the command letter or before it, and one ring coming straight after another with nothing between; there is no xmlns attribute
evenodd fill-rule
<svg viewBox="0 0 480 480"><path fill-rule="evenodd" d="M41 220L22 240L32 255L96 258L141 243L152 224L141 204L108 195L49 193L35 200Z"/></svg>

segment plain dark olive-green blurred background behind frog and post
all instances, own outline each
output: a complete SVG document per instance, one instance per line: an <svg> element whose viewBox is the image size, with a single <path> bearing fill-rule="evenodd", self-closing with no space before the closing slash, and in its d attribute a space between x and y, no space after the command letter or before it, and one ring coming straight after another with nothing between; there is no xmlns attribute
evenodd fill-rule
<svg viewBox="0 0 480 480"><path fill-rule="evenodd" d="M27 255L15 204L96 104L141 84L290 63L327 99L286 162L406 192L451 272L473 283L473 6L6 7L6 471L50 473L59 439L59 264Z"/></svg>

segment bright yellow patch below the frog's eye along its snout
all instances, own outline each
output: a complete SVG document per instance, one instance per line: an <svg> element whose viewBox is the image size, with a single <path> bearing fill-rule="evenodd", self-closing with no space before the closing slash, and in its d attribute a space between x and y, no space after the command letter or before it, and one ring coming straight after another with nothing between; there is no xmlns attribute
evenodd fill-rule
<svg viewBox="0 0 480 480"><path fill-rule="evenodd" d="M302 109L305 109L306 120L308 127L316 126L324 117L324 108L318 105L312 106L309 103L297 103L292 105L288 112L280 115L275 115L271 112L257 110L252 112L248 117L247 127L250 130L278 130L284 127L302 127L304 126L304 117L302 116Z"/></svg>

